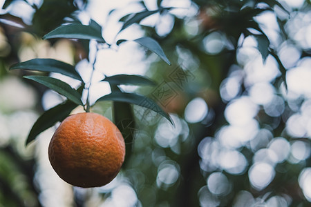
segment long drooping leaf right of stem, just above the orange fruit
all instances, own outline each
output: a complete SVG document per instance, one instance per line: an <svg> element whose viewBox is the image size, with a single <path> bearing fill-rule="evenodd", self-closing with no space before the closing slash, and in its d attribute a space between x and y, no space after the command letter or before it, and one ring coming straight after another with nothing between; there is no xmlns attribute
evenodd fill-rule
<svg viewBox="0 0 311 207"><path fill-rule="evenodd" d="M100 99L97 99L97 101L120 101L126 103L133 103L135 105L149 108L157 112L158 114L169 120L171 124L173 124L167 112L164 112L164 110L162 110L162 108L160 108L160 106L158 106L158 104L152 99L149 99L148 97L144 97L142 95L127 92L111 92L111 94L104 95Z"/></svg>

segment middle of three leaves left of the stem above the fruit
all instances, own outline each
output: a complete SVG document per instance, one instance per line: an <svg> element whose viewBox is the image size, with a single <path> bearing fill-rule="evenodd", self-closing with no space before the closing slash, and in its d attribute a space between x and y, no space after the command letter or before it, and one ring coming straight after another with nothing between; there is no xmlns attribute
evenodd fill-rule
<svg viewBox="0 0 311 207"><path fill-rule="evenodd" d="M24 76L24 78L37 81L38 83L41 83L44 86L52 90L55 90L60 95L64 95L67 99L77 103L78 105L83 106L83 103L81 101L81 95L79 94L79 92L71 88L71 86L69 86L68 83L65 83L64 81L55 79L53 77L46 77L39 75Z"/></svg>

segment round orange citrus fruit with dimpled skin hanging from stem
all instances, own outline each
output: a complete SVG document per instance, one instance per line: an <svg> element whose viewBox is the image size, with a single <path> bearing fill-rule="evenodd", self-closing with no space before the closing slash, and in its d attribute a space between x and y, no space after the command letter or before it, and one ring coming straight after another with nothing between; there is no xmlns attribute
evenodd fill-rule
<svg viewBox="0 0 311 207"><path fill-rule="evenodd" d="M70 115L55 131L48 157L57 175L83 188L111 182L123 164L125 144L109 119L91 112Z"/></svg>

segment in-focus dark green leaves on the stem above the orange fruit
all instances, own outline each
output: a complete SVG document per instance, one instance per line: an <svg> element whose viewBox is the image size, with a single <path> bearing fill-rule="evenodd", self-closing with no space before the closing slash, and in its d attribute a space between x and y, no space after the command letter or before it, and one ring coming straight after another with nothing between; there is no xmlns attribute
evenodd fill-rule
<svg viewBox="0 0 311 207"><path fill-rule="evenodd" d="M159 10L153 12L148 11L147 13L150 15L158 11ZM124 26L122 27L120 32L131 24L138 23L138 21L148 16L146 14L141 14L142 13L135 14L133 17L125 21ZM111 47L111 44L106 43L105 39L102 37L102 26L100 26L93 20L91 20L88 25L84 25L79 21L73 21L63 24L55 28L55 30L48 32L48 34L44 35L43 37L43 39L55 38L79 39L87 41L87 43L89 43L90 41L96 41L97 50L98 48L100 48L100 46ZM124 41L128 40L122 39L117 41L115 44L119 46L120 43ZM150 37L141 37L133 41L139 43L141 46L144 46L152 52L155 52L167 64L171 65L169 59L167 59L167 57L164 55L161 46L156 40ZM63 95L67 98L64 103L50 108L37 119L35 124L32 126L32 129L30 130L28 139L26 140L26 145L29 144L30 141L35 139L37 135L39 135L39 133L43 132L47 128L50 128L55 123L57 123L57 121L62 121L63 119L65 119L70 114L70 112L77 106L83 106L84 110L86 110L86 112L89 112L91 106L88 98L85 103L82 101L82 90L85 88L86 83L75 69L75 66L56 59L30 59L28 61L17 63L10 67L10 70L15 69L36 70L41 72L56 72L81 82L81 86L75 89L72 88L68 83L53 77L41 75L30 75L24 77L26 79L37 81L38 83L43 84L44 86L50 88L51 90L54 90L55 92L58 92L60 95ZM93 70L95 70L94 67ZM109 95L104 95L103 97L100 97L95 103L97 103L98 101L113 101L114 122L117 125L120 124L120 126L124 126L124 123L121 123L122 121L126 119L133 120L133 112L131 111L131 107L129 107L130 103L149 108L159 113L171 122L171 119L167 112L164 112L164 110L162 110L162 108L160 108L160 106L158 106L158 104L152 99L135 93L123 92L118 87L120 85L154 86L155 83L150 79L139 75L114 75L111 77L105 77L102 81L109 82L109 85L111 86L111 93ZM88 90L89 88L85 89ZM131 123L133 123L133 121L131 121ZM124 130L124 128L121 128L120 130L122 131Z"/></svg>

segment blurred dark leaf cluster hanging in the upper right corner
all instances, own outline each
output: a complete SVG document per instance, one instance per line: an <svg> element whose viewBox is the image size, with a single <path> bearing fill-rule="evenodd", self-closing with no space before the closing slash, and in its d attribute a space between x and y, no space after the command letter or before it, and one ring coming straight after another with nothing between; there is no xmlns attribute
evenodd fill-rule
<svg viewBox="0 0 311 207"><path fill-rule="evenodd" d="M196 1L195 1L196 2ZM274 7L278 7L286 14L290 15L279 1L276 0L244 0L244 1L210 1L203 3L198 1L199 5L214 8L216 12L214 17L216 21L216 30L220 30L225 34L232 37L230 39L234 45L235 51L238 49L238 39L241 37L252 36L258 43L258 51L261 52L263 62L267 59L268 55L272 55L279 63L279 69L282 74L281 78L287 87L285 79L285 67L281 63L278 55L273 48L271 48L270 40L261 29L261 26L255 21L254 17L263 14L263 12L274 11ZM218 8L218 9L217 9ZM214 30L211 30L214 31ZM210 31L209 31L210 32Z"/></svg>

